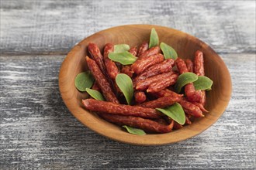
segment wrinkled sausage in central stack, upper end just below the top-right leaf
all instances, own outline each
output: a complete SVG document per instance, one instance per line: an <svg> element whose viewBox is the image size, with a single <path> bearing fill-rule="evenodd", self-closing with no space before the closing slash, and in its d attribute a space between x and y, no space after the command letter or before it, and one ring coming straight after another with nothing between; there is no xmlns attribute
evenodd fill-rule
<svg viewBox="0 0 256 170"><path fill-rule="evenodd" d="M145 80L150 76L155 76L161 73L168 73L171 71L172 66L174 66L175 61L173 59L165 59L161 63L157 63L154 66L150 66L143 73L140 73L137 77L133 79L133 84L137 84L140 80Z"/></svg>

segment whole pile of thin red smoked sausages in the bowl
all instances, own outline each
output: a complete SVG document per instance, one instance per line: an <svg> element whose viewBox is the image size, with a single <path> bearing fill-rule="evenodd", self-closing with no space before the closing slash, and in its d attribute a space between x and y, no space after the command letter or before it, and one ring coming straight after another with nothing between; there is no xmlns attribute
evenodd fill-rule
<svg viewBox="0 0 256 170"><path fill-rule="evenodd" d="M87 110L95 111L106 121L140 128L150 133L167 133L172 129L182 128L182 125L155 108L181 104L185 111L185 124L192 124L193 117L203 117L202 113L207 112L204 108L206 92L195 90L193 83L185 85L185 95L175 93L172 89L178 75L182 73L204 75L201 51L195 52L193 62L190 59L164 59L159 46L149 49L148 43L144 42L138 49L135 46L129 50L138 58L128 66L109 59L109 53L114 51L112 43L106 44L103 56L99 47L92 42L88 44L88 51L91 58L86 56L85 59L95 77L92 89L101 91L106 101L90 98L82 100L82 103ZM175 65L177 70L173 70ZM115 82L118 73L126 73L133 80L133 105L127 105L123 100L123 93Z"/></svg>

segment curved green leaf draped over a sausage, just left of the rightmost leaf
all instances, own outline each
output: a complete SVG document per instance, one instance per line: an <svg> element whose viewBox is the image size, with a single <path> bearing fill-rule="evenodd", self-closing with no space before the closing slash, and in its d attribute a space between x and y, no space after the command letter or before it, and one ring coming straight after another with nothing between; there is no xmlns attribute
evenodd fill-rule
<svg viewBox="0 0 256 170"><path fill-rule="evenodd" d="M177 93L180 93L182 87L184 87L187 83L192 83L198 79L198 76L195 73L182 73L178 76L178 80L175 83L175 90Z"/></svg>

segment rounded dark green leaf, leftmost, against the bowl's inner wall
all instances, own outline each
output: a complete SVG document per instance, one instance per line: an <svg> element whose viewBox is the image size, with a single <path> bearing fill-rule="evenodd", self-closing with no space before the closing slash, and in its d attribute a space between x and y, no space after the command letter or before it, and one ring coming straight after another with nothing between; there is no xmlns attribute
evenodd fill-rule
<svg viewBox="0 0 256 170"><path fill-rule="evenodd" d="M91 88L94 83L94 77L90 71L79 73L74 79L74 86L84 92L86 88Z"/></svg>

